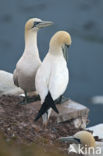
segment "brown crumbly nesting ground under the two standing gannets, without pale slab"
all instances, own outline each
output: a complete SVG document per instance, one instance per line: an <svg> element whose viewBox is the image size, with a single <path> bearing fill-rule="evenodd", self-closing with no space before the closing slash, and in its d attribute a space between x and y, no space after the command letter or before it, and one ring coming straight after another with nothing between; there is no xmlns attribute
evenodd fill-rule
<svg viewBox="0 0 103 156"><path fill-rule="evenodd" d="M74 120L72 118L67 122L57 123L58 115L53 116L53 111L47 127L44 128L42 118L34 122L41 107L40 101L20 105L19 102L21 100L23 100L23 97L13 95L3 95L0 97L0 131L2 131L7 138L15 136L19 142L23 143L36 142L38 139L40 139L41 142L41 140L46 139L49 142L48 144L54 144L57 138L74 135L80 130L73 126ZM58 105L58 107L63 107L63 105L65 104ZM60 114L62 114L62 112L60 112ZM80 117L78 116L77 118ZM79 127L80 126L81 123L79 124Z"/></svg>

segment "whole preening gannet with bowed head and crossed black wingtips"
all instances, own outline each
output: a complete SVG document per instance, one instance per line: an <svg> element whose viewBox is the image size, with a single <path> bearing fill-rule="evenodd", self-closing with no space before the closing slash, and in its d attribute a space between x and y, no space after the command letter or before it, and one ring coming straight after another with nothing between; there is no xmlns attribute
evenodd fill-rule
<svg viewBox="0 0 103 156"><path fill-rule="evenodd" d="M41 98L42 107L35 118L38 120L44 113L43 124L47 125L51 109L58 113L55 101L65 92L69 72L67 68L67 50L71 45L71 36L65 31L58 31L53 35L49 44L49 51L37 71L35 86Z"/></svg>

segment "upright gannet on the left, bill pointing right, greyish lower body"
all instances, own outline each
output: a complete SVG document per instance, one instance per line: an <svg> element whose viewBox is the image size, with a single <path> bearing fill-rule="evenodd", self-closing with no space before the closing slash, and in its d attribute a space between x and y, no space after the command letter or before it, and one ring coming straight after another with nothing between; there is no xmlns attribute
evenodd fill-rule
<svg viewBox="0 0 103 156"><path fill-rule="evenodd" d="M35 75L41 64L37 47L37 32L40 28L52 24L53 22L42 21L38 18L31 18L25 24L25 49L13 74L14 84L25 92L25 103L29 101L27 92L35 91Z"/></svg>

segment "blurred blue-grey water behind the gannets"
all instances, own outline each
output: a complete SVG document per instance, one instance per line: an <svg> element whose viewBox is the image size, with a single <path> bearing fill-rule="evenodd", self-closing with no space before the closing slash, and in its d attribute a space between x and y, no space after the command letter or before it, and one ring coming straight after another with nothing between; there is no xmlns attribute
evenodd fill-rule
<svg viewBox="0 0 103 156"><path fill-rule="evenodd" d="M38 33L41 59L56 31L70 32L70 83L65 95L90 108L90 125L103 122L103 105L90 101L103 95L103 1L1 0L0 69L13 72L24 50L24 24L31 17L55 23Z"/></svg>

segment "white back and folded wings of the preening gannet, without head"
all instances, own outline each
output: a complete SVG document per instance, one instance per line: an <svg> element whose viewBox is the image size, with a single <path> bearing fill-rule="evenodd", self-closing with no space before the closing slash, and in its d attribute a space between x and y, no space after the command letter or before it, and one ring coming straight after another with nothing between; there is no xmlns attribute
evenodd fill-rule
<svg viewBox="0 0 103 156"><path fill-rule="evenodd" d="M47 54L36 75L36 90L41 97L41 103L50 92L53 100L58 99L66 90L69 81L67 63L60 55L55 56L50 52Z"/></svg>

